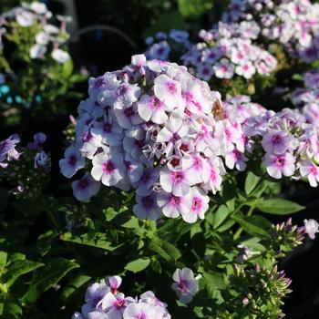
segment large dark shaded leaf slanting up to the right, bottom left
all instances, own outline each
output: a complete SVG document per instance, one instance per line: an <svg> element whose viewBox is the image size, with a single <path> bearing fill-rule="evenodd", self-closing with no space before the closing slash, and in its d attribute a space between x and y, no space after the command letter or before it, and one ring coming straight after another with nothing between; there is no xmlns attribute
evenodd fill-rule
<svg viewBox="0 0 319 319"><path fill-rule="evenodd" d="M30 287L23 296L22 301L25 304L33 304L36 299L46 290L58 283L72 269L78 268L77 262L69 261L64 258L51 259L46 267L36 274L30 283Z"/></svg>

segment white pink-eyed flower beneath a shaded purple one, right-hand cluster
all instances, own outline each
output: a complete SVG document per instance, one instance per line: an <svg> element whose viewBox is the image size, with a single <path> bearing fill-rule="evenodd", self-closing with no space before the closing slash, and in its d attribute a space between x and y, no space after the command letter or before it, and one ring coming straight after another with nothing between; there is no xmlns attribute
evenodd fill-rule
<svg viewBox="0 0 319 319"><path fill-rule="evenodd" d="M273 155L267 153L263 160L268 174L273 179L281 179L282 176L293 176L295 170L295 159L291 153L284 153L279 155Z"/></svg>

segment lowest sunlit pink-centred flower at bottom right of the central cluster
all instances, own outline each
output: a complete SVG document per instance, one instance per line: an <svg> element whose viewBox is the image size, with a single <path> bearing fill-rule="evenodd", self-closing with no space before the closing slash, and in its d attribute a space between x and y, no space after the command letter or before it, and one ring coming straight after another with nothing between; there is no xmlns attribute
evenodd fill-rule
<svg viewBox="0 0 319 319"><path fill-rule="evenodd" d="M192 187L190 194L186 197L186 206L189 211L183 212L181 217L184 221L193 223L198 219L205 218L205 211L209 208L210 198L203 190L198 187Z"/></svg>

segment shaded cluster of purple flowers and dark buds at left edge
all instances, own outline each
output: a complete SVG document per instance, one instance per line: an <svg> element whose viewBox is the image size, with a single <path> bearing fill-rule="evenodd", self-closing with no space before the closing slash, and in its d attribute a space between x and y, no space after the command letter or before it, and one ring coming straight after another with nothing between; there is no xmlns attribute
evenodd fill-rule
<svg viewBox="0 0 319 319"><path fill-rule="evenodd" d="M46 135L36 133L26 148L20 147L17 135L0 141L0 180L13 187L10 190L20 197L35 197L46 179L51 160L43 144Z"/></svg>

